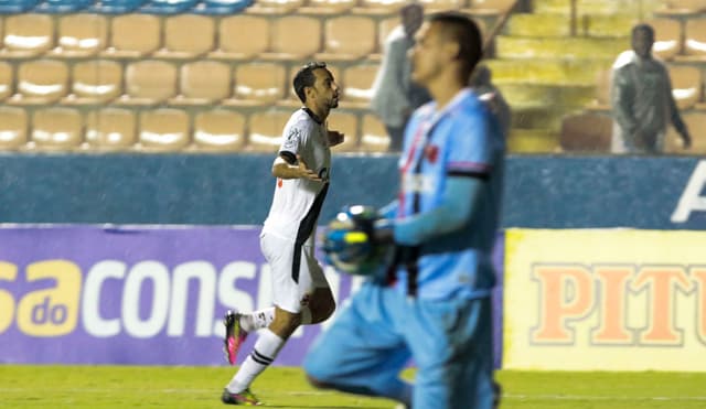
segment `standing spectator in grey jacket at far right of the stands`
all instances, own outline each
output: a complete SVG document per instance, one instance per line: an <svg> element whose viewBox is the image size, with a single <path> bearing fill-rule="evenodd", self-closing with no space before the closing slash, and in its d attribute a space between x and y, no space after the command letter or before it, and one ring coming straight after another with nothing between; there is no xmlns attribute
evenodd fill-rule
<svg viewBox="0 0 706 409"><path fill-rule="evenodd" d="M684 149L692 138L672 96L665 65L652 57L654 30L649 24L632 29L632 51L613 64L610 104L613 117L613 153L662 153L668 122L682 137Z"/></svg>

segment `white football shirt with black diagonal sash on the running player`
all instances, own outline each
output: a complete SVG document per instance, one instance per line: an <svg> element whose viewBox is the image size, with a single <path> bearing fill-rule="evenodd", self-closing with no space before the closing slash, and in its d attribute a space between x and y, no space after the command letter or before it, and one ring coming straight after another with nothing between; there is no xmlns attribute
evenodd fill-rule
<svg viewBox="0 0 706 409"><path fill-rule="evenodd" d="M297 244L313 245L319 213L329 189L331 149L325 122L302 108L292 114L282 131L279 154L290 163L299 155L307 168L317 172L322 182L307 179L277 179L264 233Z"/></svg>

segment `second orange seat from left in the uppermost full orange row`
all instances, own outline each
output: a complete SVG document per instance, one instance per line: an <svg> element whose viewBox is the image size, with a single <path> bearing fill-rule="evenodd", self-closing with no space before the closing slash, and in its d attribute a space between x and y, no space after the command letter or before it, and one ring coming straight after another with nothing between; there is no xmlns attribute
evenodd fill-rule
<svg viewBox="0 0 706 409"><path fill-rule="evenodd" d="M68 14L58 20L57 57L84 57L96 55L106 47L108 23L99 14Z"/></svg>

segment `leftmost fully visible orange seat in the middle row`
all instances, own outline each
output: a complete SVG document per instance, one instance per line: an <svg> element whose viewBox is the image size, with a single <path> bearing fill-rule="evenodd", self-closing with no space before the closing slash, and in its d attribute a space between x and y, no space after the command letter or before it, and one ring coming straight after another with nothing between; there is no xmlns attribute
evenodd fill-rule
<svg viewBox="0 0 706 409"><path fill-rule="evenodd" d="M45 105L68 93L68 67L61 61L30 60L18 68L17 92L8 103Z"/></svg>

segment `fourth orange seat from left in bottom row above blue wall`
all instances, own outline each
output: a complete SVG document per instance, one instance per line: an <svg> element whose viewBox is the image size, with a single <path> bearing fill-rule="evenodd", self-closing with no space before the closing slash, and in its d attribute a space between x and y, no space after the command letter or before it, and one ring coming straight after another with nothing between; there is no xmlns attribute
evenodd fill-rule
<svg viewBox="0 0 706 409"><path fill-rule="evenodd" d="M179 151L190 142L189 115L180 109L159 108L140 112L137 149L154 152Z"/></svg>

